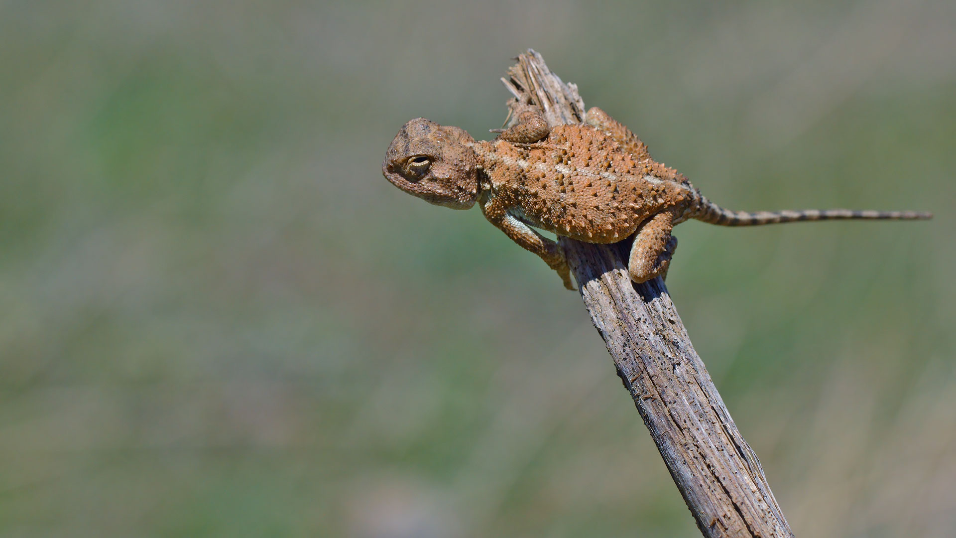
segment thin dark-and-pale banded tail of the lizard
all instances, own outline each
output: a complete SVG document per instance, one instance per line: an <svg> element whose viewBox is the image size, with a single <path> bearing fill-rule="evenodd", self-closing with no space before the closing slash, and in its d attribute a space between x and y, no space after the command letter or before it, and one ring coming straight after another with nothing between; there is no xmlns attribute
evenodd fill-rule
<svg viewBox="0 0 956 538"><path fill-rule="evenodd" d="M858 210L785 210L779 212L735 212L724 209L701 196L697 211L692 218L719 226L760 226L776 224L778 222L798 222L801 220L925 220L932 218L932 213L923 212L878 212Z"/></svg>

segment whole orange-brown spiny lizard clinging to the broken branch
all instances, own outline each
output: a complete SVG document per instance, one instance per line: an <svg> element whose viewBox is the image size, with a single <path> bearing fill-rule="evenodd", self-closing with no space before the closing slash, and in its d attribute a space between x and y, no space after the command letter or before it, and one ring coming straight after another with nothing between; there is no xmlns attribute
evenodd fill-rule
<svg viewBox="0 0 956 538"><path fill-rule="evenodd" d="M459 127L416 118L388 146L382 173L432 204L482 213L541 257L575 289L560 246L532 227L590 243L635 235L631 280L666 276L677 247L674 225L696 218L722 226L831 219L925 219L929 213L803 210L744 213L706 199L674 168L655 162L623 124L595 107L584 123L549 126L527 108L489 142Z"/></svg>

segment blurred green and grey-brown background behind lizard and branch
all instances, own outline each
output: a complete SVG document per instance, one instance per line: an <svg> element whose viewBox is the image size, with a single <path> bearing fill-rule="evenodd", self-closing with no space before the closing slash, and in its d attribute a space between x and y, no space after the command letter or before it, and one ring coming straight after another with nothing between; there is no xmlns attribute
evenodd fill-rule
<svg viewBox="0 0 956 538"><path fill-rule="evenodd" d="M0 535L696 536L576 293L380 174L528 47L739 210L668 285L798 536L956 535L956 4L0 2Z"/></svg>

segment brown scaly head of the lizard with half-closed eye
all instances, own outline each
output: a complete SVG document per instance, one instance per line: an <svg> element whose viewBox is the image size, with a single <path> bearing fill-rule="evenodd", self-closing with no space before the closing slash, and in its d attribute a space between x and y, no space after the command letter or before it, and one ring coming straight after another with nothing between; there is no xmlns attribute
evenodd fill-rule
<svg viewBox="0 0 956 538"><path fill-rule="evenodd" d="M426 202L467 210L478 199L473 143L464 129L416 118L395 135L381 173L392 185Z"/></svg>

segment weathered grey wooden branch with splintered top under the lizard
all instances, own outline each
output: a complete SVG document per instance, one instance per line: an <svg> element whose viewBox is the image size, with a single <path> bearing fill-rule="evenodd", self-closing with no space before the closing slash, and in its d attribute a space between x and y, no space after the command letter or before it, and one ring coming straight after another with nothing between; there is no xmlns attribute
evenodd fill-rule
<svg viewBox="0 0 956 538"><path fill-rule="evenodd" d="M517 59L510 78L502 78L514 95L512 117L535 105L553 125L582 121L584 102L574 84L563 83L532 50ZM704 536L793 536L663 280L631 282L627 241L560 242L618 375Z"/></svg>

